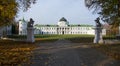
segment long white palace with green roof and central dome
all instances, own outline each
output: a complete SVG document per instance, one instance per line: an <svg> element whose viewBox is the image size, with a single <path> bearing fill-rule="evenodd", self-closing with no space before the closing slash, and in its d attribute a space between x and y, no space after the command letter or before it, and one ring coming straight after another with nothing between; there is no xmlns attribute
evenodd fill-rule
<svg viewBox="0 0 120 66"><path fill-rule="evenodd" d="M88 34L94 35L95 30L93 25L72 25L62 17L57 25L34 25L34 34ZM19 21L19 35L26 35L27 33L27 22L23 19ZM102 30L102 34L106 35L106 30Z"/></svg>

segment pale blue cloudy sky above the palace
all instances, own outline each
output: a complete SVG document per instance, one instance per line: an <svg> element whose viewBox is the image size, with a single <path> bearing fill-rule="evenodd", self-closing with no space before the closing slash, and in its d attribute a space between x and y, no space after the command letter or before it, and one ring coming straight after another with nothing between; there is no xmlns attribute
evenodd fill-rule
<svg viewBox="0 0 120 66"><path fill-rule="evenodd" d="M84 0L37 0L27 12L20 11L17 20L32 18L35 24L57 24L65 17L69 24L90 24L98 17L85 7Z"/></svg>

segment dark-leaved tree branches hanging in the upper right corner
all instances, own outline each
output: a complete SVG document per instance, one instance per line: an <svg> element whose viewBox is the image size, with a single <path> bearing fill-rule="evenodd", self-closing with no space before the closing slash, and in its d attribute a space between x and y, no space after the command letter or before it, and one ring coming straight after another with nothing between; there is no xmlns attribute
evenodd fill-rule
<svg viewBox="0 0 120 66"><path fill-rule="evenodd" d="M100 18L114 27L120 24L120 0L85 0L85 5Z"/></svg>

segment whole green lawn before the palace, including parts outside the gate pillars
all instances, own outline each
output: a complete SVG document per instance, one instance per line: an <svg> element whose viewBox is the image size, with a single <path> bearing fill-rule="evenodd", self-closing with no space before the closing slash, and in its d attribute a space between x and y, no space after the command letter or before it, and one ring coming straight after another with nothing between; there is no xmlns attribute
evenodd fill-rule
<svg viewBox="0 0 120 66"><path fill-rule="evenodd" d="M26 39L25 35L12 35L9 38ZM53 42L58 39L67 39L74 43L92 43L94 35L68 34L68 35L35 35L36 42ZM115 36L103 36L103 39L115 39Z"/></svg>

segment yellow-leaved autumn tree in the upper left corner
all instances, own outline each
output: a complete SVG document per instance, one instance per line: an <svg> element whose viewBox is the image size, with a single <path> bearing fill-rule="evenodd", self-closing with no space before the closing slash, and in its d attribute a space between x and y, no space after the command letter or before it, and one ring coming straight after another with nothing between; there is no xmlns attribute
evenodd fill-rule
<svg viewBox="0 0 120 66"><path fill-rule="evenodd" d="M10 24L20 9L28 10L36 0L0 0L0 26Z"/></svg>

